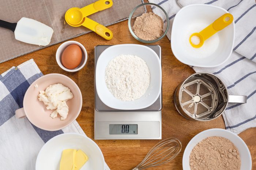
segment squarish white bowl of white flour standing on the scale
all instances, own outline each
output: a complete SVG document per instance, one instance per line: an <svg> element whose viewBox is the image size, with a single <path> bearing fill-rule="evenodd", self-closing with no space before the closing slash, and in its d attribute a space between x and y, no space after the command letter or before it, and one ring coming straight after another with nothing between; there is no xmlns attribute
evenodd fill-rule
<svg viewBox="0 0 256 170"><path fill-rule="evenodd" d="M150 84L145 94L133 101L115 98L105 83L105 70L110 60L118 55L136 55L142 58L150 71ZM138 44L120 44L104 50L99 56L95 70L95 85L101 101L109 107L120 110L136 110L151 106L159 97L162 86L162 68L158 55L149 47Z"/></svg>

